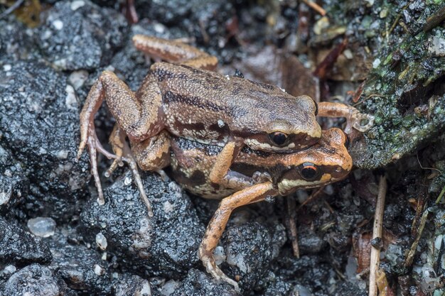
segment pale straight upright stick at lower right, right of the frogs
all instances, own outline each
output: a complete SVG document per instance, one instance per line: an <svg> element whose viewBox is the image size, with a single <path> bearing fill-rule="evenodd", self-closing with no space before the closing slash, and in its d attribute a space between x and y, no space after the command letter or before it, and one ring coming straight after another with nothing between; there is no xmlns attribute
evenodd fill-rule
<svg viewBox="0 0 445 296"><path fill-rule="evenodd" d="M385 197L386 197L386 177L380 177L379 182L379 194L377 196L377 204L375 205L374 215L374 227L372 229L372 239L382 237L383 226L383 212L385 211ZM369 276L369 296L377 296L377 270L380 265L380 250L371 247L371 260L370 260L370 276Z"/></svg>

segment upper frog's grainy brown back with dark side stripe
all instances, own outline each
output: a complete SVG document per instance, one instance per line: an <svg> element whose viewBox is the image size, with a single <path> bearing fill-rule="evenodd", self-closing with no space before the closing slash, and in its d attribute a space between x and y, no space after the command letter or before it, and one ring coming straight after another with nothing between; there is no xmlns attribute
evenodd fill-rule
<svg viewBox="0 0 445 296"><path fill-rule="evenodd" d="M317 125L311 98L273 85L165 62L151 72L161 89L166 128L176 136L221 142L263 132L276 120L302 131Z"/></svg>

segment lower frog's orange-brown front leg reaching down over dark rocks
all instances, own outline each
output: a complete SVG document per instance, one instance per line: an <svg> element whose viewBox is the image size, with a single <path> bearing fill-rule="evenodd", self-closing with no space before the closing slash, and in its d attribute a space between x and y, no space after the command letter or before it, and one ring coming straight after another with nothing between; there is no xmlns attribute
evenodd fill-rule
<svg viewBox="0 0 445 296"><path fill-rule="evenodd" d="M213 278L217 280L224 280L230 285L233 285L235 289L239 290L238 284L235 280L227 277L223 270L220 270L218 265L215 263L215 258L213 257L213 251L215 251L216 246L218 246L218 241L223 235L227 221L229 220L230 214L237 207L244 206L245 204L252 204L254 202L261 202L269 195L276 195L277 192L274 190L271 182L264 182L261 184L253 185L244 190L240 190L225 197L213 214L207 229L205 230L205 235L203 241L199 246L199 257L205 266L208 273L213 275Z"/></svg>

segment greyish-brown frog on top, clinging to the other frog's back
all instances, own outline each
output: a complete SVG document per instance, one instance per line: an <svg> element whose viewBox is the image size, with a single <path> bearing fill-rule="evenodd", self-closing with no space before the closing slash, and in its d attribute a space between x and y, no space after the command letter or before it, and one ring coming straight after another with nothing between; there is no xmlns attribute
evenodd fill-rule
<svg viewBox="0 0 445 296"><path fill-rule="evenodd" d="M146 35L134 35L132 40L136 49L167 62L154 62L136 92L113 72L104 71L87 95L80 113L77 159L87 146L99 204L104 204L104 197L97 151L122 163L121 155L109 153L97 139L94 117L104 100L132 147L140 148L164 130L174 136L222 146L210 172L212 182L220 185L233 182L230 167L245 146L264 152L293 153L316 144L322 135L317 114L346 117L348 126L359 131L372 126L373 117L352 106L316 104L309 96L294 97L271 84L221 75L215 72L216 57L178 40ZM126 159L134 165L134 161ZM137 180L140 181L139 176ZM138 187L152 215L143 188Z"/></svg>

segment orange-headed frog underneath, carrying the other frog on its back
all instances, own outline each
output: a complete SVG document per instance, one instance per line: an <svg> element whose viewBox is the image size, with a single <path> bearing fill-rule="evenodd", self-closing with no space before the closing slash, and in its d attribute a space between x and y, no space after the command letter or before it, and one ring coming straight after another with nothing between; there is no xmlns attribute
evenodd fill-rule
<svg viewBox="0 0 445 296"><path fill-rule="evenodd" d="M118 127L113 134L124 140L124 133ZM129 148L121 141L119 144ZM237 182L225 185L213 182L210 177L213 164L224 148L171 136L166 131L146 141L144 145L132 147L137 150L134 154L139 155L137 161L143 168L156 170L169 166L170 177L184 190L206 199L220 199L198 248L198 256L213 278L230 283L235 289L239 289L237 282L220 270L213 256L232 211L264 199L287 196L296 190L343 180L353 168L348 137L339 128L322 131L320 141L294 153L269 153L245 147L232 163L232 177Z"/></svg>

